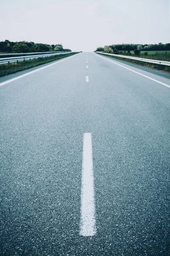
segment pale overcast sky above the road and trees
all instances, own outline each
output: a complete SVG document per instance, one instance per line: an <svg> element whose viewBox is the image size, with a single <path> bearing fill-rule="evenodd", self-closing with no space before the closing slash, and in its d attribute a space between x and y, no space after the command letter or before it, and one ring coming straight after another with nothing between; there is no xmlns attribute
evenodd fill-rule
<svg viewBox="0 0 170 256"><path fill-rule="evenodd" d="M170 0L0 0L0 41L72 51L170 42Z"/></svg>

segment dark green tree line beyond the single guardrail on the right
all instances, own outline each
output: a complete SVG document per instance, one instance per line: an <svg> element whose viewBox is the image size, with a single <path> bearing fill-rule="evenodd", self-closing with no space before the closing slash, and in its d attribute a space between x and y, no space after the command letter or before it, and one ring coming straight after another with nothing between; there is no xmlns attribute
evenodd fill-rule
<svg viewBox="0 0 170 256"><path fill-rule="evenodd" d="M98 47L96 52L103 52L108 49L112 53L115 49L118 51L170 51L170 43L168 44L112 44L105 47Z"/></svg>

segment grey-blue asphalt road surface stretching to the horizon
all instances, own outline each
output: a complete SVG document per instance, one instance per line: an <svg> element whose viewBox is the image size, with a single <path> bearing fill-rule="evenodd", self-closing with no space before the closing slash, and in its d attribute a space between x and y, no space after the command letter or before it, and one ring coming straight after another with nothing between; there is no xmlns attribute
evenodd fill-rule
<svg viewBox="0 0 170 256"><path fill-rule="evenodd" d="M167 85L170 75L94 53L56 62L0 86L0 255L169 256L170 88L138 73ZM84 134L89 236L80 232Z"/></svg>

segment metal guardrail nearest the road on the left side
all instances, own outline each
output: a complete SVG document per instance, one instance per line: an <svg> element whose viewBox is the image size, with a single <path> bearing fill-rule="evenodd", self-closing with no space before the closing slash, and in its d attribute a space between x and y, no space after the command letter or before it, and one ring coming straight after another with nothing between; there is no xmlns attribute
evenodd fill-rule
<svg viewBox="0 0 170 256"><path fill-rule="evenodd" d="M10 62L25 61L25 60L35 59L35 58L45 58L45 57L49 57L49 56L66 54L66 53L74 53L74 52L57 52L57 53L51 53L51 54L41 54L41 55L30 55L30 56L21 56L21 57L0 58L0 64L5 64L5 63L10 64Z"/></svg>

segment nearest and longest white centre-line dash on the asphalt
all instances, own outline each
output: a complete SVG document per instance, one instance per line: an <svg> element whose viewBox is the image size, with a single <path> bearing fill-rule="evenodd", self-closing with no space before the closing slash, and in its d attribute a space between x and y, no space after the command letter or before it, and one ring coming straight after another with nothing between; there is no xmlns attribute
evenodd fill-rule
<svg viewBox="0 0 170 256"><path fill-rule="evenodd" d="M91 133L83 136L80 236L96 234Z"/></svg>

